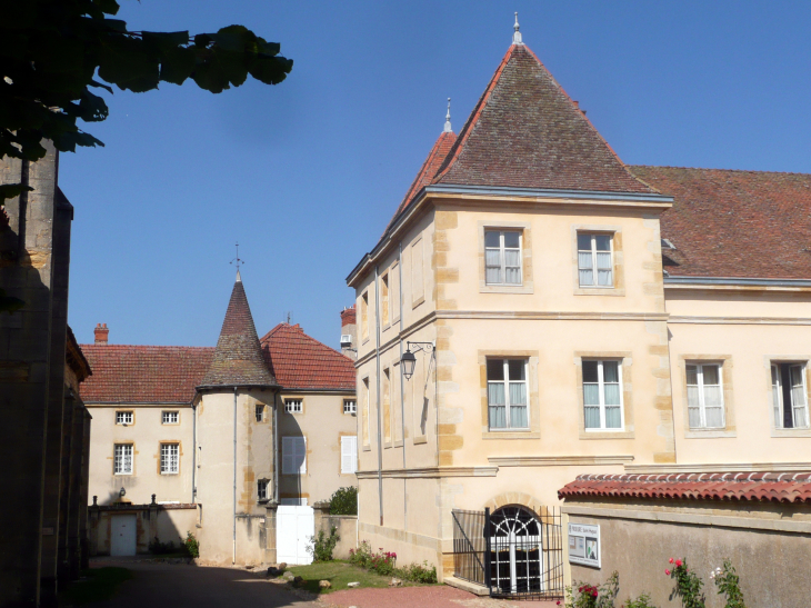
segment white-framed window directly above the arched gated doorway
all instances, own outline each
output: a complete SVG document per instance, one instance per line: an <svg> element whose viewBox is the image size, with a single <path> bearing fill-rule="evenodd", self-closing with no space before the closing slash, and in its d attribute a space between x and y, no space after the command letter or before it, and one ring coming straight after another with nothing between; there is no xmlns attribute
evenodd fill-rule
<svg viewBox="0 0 811 608"><path fill-rule="evenodd" d="M527 429L527 360L488 359L490 430Z"/></svg>

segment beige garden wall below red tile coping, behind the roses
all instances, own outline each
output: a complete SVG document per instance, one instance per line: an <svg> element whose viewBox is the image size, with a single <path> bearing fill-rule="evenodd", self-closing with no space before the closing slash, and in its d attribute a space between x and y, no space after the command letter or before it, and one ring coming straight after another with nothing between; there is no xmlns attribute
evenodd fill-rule
<svg viewBox="0 0 811 608"><path fill-rule="evenodd" d="M747 606L795 608L811 596L809 505L567 501L563 511L570 522L600 526L601 568L572 564L571 579L598 584L617 570L618 604L648 592L654 606L680 607L681 600L671 597L673 580L664 574L672 568L671 557L687 558L703 579L708 608L724 606L709 576L724 558L740 576Z"/></svg>

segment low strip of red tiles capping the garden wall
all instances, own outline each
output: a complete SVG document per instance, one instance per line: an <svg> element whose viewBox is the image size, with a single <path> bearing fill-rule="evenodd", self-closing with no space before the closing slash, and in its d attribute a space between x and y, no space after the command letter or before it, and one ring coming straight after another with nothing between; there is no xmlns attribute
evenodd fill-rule
<svg viewBox="0 0 811 608"><path fill-rule="evenodd" d="M582 497L811 504L811 472L580 475L558 490Z"/></svg>

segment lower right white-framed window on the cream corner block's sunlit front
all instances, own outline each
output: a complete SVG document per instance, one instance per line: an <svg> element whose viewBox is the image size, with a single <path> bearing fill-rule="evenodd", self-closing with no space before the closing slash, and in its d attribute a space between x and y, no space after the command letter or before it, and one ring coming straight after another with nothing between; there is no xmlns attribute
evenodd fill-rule
<svg viewBox="0 0 811 608"><path fill-rule="evenodd" d="M622 428L619 361L583 360L583 407L587 430Z"/></svg>

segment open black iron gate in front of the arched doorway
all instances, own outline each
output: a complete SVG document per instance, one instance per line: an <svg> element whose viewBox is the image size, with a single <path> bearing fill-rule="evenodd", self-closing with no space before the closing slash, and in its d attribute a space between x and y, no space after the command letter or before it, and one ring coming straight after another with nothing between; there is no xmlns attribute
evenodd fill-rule
<svg viewBox="0 0 811 608"><path fill-rule="evenodd" d="M462 578L513 599L563 597L560 508L534 514L503 507L493 514L454 509L453 567Z"/></svg>

